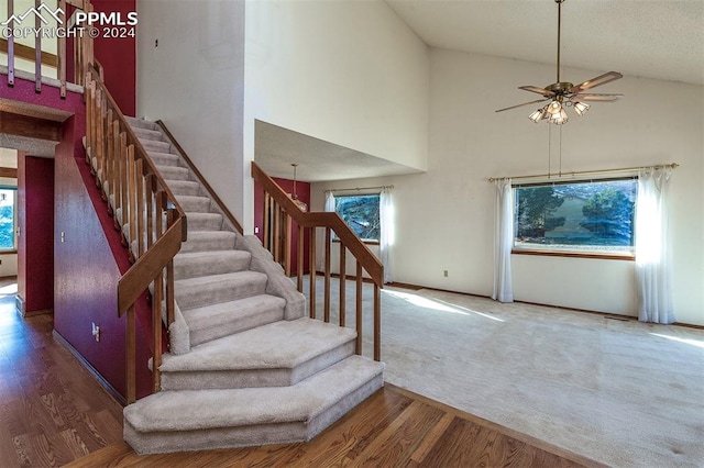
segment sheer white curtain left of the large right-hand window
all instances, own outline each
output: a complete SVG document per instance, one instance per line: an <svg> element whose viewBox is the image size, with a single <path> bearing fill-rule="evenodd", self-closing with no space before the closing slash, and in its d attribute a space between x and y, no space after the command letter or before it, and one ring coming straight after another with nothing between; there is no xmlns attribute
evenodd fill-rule
<svg viewBox="0 0 704 468"><path fill-rule="evenodd" d="M510 277L510 250L514 246L514 190L510 179L498 179L494 226L494 292L492 299L514 302Z"/></svg>

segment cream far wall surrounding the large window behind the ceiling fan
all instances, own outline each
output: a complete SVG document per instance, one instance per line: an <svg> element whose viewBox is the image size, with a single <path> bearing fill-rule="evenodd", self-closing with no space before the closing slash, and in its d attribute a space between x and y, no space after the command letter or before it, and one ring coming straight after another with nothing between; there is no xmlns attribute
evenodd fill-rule
<svg viewBox="0 0 704 468"><path fill-rule="evenodd" d="M488 177L543 174L560 164L559 127L534 124L531 108L494 110L535 99L516 89L554 81L554 68L512 59L431 51L428 171L315 183L322 190L394 185L395 280L488 296L492 292L494 187ZM563 70L581 82L605 70ZM562 126L563 171L676 161L672 179L674 301L678 321L704 324L704 87L625 77ZM552 135L549 134L552 126ZM449 276L443 277L443 270ZM517 300L635 315L634 263L513 256Z"/></svg>

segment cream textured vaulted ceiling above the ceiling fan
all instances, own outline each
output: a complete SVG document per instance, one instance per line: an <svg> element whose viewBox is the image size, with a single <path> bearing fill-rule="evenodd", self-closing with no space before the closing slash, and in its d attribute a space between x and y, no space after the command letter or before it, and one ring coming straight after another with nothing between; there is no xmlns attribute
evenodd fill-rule
<svg viewBox="0 0 704 468"><path fill-rule="evenodd" d="M556 64L554 0L386 3L430 46ZM704 0L565 0L561 35L563 66L704 85Z"/></svg>

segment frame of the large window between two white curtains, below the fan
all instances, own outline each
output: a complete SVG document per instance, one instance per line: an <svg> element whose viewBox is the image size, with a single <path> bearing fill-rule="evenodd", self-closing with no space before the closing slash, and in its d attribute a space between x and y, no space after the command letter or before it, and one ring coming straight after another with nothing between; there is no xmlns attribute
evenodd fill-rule
<svg viewBox="0 0 704 468"><path fill-rule="evenodd" d="M571 179L571 180L544 180L544 181L531 181L527 183L512 183L512 189L517 190L519 188L529 188L529 187L547 187L547 186L565 186L565 185L578 185L578 183L598 183L598 182L615 182L619 180L634 180L636 182L636 198L634 199L634 210L638 201L638 187L637 176L617 176L617 177L605 177L605 178L584 178L584 179ZM514 238L512 246L512 255L532 255L532 256L546 256L546 257L568 257L568 258L594 258L594 259L608 259L608 260L627 260L635 261L636 260L636 252L635 252L635 242L631 246L631 252L608 252L608 250L597 250L597 249L570 249L570 248L551 248L551 246L546 245L542 247L517 247L516 246L516 236L518 226L515 223L517 216L517 208L516 207L516 193L514 192L513 197L514 204ZM635 236L635 214L634 222L631 227Z"/></svg>

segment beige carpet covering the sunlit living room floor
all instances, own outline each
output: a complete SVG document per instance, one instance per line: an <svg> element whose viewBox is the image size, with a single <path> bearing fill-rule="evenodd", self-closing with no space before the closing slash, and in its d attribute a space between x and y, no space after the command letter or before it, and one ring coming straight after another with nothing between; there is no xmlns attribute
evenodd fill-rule
<svg viewBox="0 0 704 468"><path fill-rule="evenodd" d="M704 466L702 330L398 288L382 314L391 383L610 466Z"/></svg>

